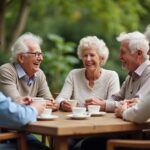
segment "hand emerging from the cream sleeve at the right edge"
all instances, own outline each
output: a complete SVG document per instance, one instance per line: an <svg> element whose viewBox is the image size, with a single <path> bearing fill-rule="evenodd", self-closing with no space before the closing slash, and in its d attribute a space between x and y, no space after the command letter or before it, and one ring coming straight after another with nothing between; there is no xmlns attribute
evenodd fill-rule
<svg viewBox="0 0 150 150"><path fill-rule="evenodd" d="M127 109L127 103L120 103L120 105L115 109L115 116L118 118L122 118L122 113L125 109Z"/></svg>

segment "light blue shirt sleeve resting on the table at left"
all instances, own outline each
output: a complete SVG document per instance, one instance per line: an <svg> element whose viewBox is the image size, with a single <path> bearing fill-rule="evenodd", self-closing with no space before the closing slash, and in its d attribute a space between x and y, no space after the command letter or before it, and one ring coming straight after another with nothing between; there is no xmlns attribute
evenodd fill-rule
<svg viewBox="0 0 150 150"><path fill-rule="evenodd" d="M18 129L30 122L35 122L37 110L32 106L20 105L0 92L0 126Z"/></svg>

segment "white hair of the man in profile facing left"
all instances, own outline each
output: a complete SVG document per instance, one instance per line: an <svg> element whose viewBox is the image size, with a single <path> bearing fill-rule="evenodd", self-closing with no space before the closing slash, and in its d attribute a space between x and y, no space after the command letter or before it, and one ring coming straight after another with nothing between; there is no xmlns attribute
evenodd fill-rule
<svg viewBox="0 0 150 150"><path fill-rule="evenodd" d="M144 59L149 59L149 55L147 55L147 52L149 50L149 42L143 33L138 31L130 33L123 32L117 37L117 41L128 42L129 49L132 54L134 54L137 50L141 50L143 52Z"/></svg>

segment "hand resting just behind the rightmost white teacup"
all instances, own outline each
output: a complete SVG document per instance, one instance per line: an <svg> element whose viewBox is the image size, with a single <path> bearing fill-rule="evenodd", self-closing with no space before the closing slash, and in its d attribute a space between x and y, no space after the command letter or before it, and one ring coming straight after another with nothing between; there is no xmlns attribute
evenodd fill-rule
<svg viewBox="0 0 150 150"><path fill-rule="evenodd" d="M101 110L103 110L103 111L105 110L105 107L106 107L105 100L96 99L96 98L86 99L85 106L87 107L88 105L100 105Z"/></svg>

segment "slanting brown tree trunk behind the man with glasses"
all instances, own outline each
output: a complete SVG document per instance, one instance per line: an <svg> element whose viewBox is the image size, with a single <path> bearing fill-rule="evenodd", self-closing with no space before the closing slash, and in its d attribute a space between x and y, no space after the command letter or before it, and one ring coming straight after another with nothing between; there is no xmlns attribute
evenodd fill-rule
<svg viewBox="0 0 150 150"><path fill-rule="evenodd" d="M16 18L16 22L14 24L13 33L11 36L11 40L8 43L7 50L10 50L11 45L15 42L15 40L20 36L23 32L26 20L30 11L32 0L21 0L20 10L18 12L18 17Z"/></svg>

